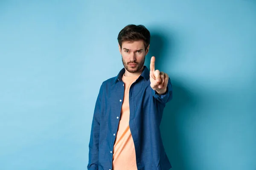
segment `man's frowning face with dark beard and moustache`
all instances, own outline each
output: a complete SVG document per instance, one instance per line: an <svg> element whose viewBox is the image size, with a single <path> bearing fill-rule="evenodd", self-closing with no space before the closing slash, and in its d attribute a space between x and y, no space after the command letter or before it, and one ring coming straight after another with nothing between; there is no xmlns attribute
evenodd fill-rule
<svg viewBox="0 0 256 170"><path fill-rule="evenodd" d="M119 51L122 55L122 62L125 69L130 73L141 71L145 62L145 56L148 54L148 48L145 51L143 40L134 42L123 42L122 49L119 45Z"/></svg>

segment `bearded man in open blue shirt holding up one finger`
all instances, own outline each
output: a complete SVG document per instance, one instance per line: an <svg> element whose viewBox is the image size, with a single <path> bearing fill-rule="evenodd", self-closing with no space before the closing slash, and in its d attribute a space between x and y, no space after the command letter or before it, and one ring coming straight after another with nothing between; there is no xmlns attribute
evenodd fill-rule
<svg viewBox="0 0 256 170"><path fill-rule="evenodd" d="M104 81L96 100L88 170L169 170L160 122L172 99L168 75L144 66L150 32L128 25L118 35L124 68Z"/></svg>

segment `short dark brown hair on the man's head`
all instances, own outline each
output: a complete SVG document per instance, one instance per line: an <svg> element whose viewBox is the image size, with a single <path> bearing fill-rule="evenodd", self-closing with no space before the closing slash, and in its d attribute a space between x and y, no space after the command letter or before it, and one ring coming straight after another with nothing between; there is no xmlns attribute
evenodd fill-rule
<svg viewBox="0 0 256 170"><path fill-rule="evenodd" d="M125 28L123 28L119 32L117 40L121 48L122 48L122 43L125 41L133 42L137 40L143 40L145 50L146 50L150 43L150 32L143 25L136 26L134 24L130 24L125 26Z"/></svg>

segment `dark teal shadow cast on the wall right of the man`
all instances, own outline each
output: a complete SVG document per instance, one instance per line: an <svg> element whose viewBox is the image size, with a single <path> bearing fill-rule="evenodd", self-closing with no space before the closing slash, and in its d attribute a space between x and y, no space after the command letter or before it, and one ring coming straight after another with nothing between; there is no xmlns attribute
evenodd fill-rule
<svg viewBox="0 0 256 170"><path fill-rule="evenodd" d="M168 38L163 32L151 32L150 50L146 57L145 65L149 67L151 56L155 56L155 69L164 71L170 76L168 70L161 69L161 65L167 65L166 68L171 68L175 64L172 62L174 61L172 57L176 57L173 55L175 51L174 43L174 40ZM179 130L178 120L181 115L185 116L186 111L184 108L193 107L195 97L182 86L185 82L180 83L177 78L172 78L171 76L170 79L173 87L173 99L166 104L160 126L163 144L172 164L172 170L191 170L188 161L186 161L187 141L184 140L184 136Z"/></svg>

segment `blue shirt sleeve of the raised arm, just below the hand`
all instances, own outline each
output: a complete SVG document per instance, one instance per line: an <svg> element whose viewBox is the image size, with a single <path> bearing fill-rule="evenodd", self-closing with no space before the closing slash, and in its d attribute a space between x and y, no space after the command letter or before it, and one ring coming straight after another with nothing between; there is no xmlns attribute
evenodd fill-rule
<svg viewBox="0 0 256 170"><path fill-rule="evenodd" d="M157 101L160 103L166 104L172 99L172 83L170 78L168 79L168 84L166 92L164 94L158 94L155 90L152 89L152 94Z"/></svg>

